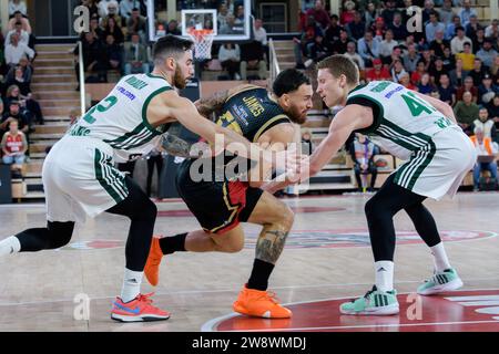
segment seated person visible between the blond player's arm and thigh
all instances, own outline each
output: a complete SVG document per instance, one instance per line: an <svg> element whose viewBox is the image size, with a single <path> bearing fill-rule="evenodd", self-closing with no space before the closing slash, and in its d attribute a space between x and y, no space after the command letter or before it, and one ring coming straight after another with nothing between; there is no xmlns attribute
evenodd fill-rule
<svg viewBox="0 0 499 354"><path fill-rule="evenodd" d="M364 184L360 175L371 175L369 191L374 190L378 168L374 162L376 146L365 135L356 133L353 143L352 157L354 160L355 179L359 191L364 191ZM367 186L366 186L367 187Z"/></svg>

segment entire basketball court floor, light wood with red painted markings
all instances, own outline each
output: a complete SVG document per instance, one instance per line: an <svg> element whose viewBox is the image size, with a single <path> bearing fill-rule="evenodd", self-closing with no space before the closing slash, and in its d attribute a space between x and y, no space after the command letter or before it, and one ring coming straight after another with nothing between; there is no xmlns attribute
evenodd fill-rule
<svg viewBox="0 0 499 354"><path fill-rule="evenodd" d="M293 232L271 278L271 290L294 311L291 320L247 319L232 312L246 282L259 228L247 225L246 247L233 254L175 253L163 260L154 303L172 312L165 322L110 320L120 293L129 221L102 215L78 227L60 250L0 259L0 331L499 331L499 194L460 192L427 201L451 264L465 287L418 298L431 274L431 256L409 218L396 216L395 285L400 314L345 316L338 304L373 285L364 204L369 196L283 199L296 212ZM180 200L157 204L155 233L198 228ZM44 206L0 207L0 239L44 225Z"/></svg>

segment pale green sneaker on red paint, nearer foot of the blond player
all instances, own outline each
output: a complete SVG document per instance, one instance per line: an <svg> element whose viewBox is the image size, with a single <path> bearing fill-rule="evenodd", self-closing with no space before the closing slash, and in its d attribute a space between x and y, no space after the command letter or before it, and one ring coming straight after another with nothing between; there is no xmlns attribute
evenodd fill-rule
<svg viewBox="0 0 499 354"><path fill-rule="evenodd" d="M397 292L378 291L376 285L364 298L345 302L339 306L343 314L390 315L399 312Z"/></svg>

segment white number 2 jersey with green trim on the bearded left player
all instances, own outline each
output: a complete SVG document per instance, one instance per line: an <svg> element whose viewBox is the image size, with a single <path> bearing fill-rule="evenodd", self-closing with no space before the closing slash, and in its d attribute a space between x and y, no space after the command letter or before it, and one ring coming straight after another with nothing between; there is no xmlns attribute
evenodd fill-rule
<svg viewBox="0 0 499 354"><path fill-rule="evenodd" d="M167 125L152 127L146 112L151 100L172 90L170 83L152 74L122 77L109 95L93 106L68 132L109 144L119 160L152 150Z"/></svg>

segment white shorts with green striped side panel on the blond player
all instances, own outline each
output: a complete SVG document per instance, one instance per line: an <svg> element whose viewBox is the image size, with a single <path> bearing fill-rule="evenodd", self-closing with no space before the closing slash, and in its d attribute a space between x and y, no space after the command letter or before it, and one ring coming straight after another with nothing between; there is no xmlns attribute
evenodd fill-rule
<svg viewBox="0 0 499 354"><path fill-rule="evenodd" d="M436 200L454 197L462 179L472 169L477 153L459 127L448 127L431 142L414 152L395 171L395 184Z"/></svg>

